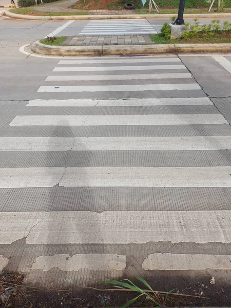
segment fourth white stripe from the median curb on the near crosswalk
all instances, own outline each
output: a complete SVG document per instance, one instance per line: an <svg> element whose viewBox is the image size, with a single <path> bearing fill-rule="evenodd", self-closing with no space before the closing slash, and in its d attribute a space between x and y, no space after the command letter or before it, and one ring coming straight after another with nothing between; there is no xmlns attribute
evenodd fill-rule
<svg viewBox="0 0 231 308"><path fill-rule="evenodd" d="M38 92L106 92L106 91L169 91L169 90L201 90L197 83L193 84L148 84L148 85L103 85L103 86L42 86Z"/></svg>

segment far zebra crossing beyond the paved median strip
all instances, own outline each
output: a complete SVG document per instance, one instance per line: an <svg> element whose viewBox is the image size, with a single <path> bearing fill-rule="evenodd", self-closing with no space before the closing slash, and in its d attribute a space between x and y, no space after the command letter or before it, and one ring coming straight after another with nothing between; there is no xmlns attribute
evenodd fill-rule
<svg viewBox="0 0 231 308"><path fill-rule="evenodd" d="M89 21L79 35L155 34L147 20L94 20Z"/></svg>

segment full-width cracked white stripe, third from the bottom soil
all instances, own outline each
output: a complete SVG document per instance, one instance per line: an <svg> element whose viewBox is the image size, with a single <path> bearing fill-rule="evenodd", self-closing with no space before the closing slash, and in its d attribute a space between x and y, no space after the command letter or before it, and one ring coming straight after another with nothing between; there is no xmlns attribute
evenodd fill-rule
<svg viewBox="0 0 231 308"><path fill-rule="evenodd" d="M0 188L230 187L231 167L2 168Z"/></svg>

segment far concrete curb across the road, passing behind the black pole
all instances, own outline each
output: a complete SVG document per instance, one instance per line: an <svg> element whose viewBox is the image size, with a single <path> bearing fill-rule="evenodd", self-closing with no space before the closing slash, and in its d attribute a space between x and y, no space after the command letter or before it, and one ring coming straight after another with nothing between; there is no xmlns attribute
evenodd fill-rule
<svg viewBox="0 0 231 308"><path fill-rule="evenodd" d="M104 19L141 19L141 18L170 18L176 16L176 14L142 14L142 15L71 15L71 16L32 16L32 15L23 15L15 14L9 11L6 11L5 14L12 18L24 19L24 20L39 20L39 21L77 21L77 20L104 20ZM211 13L211 14L184 14L184 17L190 18L222 18L222 17L231 17L231 13Z"/></svg>

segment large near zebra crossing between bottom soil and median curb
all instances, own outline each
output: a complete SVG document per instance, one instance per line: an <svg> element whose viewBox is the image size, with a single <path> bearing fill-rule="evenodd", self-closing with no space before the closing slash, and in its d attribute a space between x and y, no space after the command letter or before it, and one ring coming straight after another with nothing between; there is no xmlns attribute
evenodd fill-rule
<svg viewBox="0 0 231 308"><path fill-rule="evenodd" d="M0 270L230 269L231 128L177 56L61 60L37 93L0 137Z"/></svg>

